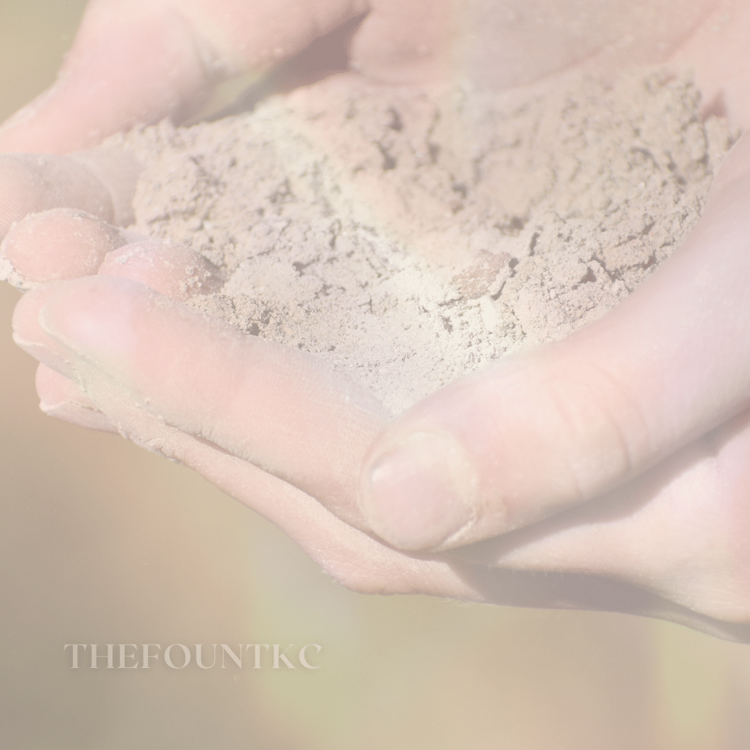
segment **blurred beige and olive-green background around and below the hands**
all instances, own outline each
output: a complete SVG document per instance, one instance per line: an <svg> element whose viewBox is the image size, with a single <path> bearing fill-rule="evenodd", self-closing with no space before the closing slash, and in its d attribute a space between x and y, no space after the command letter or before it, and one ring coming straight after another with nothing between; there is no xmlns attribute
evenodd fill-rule
<svg viewBox="0 0 750 750"><path fill-rule="evenodd" d="M0 119L52 83L85 5L0 1ZM1 750L750 747L748 646L354 594L189 470L43 416L19 296L0 284ZM323 650L314 671L72 670L65 643Z"/></svg>

